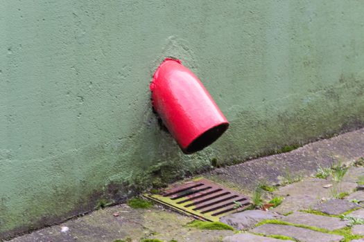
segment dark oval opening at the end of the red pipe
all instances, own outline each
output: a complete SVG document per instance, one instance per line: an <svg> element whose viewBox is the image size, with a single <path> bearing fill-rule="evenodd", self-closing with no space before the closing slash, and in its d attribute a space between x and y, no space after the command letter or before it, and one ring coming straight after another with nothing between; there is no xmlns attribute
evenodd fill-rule
<svg viewBox="0 0 364 242"><path fill-rule="evenodd" d="M215 142L229 127L229 123L218 124L218 126L207 129L184 150L184 153L194 153Z"/></svg>

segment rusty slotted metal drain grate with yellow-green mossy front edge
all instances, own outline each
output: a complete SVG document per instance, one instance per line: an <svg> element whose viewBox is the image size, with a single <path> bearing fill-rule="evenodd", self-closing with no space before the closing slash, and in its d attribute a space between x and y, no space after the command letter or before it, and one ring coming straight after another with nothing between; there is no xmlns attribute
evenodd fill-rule
<svg viewBox="0 0 364 242"><path fill-rule="evenodd" d="M174 185L161 195L144 196L206 221L218 221L220 217L244 210L251 204L248 196L205 178Z"/></svg>

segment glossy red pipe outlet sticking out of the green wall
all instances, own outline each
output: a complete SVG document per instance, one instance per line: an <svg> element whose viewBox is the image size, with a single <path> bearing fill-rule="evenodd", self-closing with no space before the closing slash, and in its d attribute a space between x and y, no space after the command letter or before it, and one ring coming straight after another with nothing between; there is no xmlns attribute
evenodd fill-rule
<svg viewBox="0 0 364 242"><path fill-rule="evenodd" d="M155 111L184 153L200 151L229 127L198 77L178 59L165 59L150 84Z"/></svg>

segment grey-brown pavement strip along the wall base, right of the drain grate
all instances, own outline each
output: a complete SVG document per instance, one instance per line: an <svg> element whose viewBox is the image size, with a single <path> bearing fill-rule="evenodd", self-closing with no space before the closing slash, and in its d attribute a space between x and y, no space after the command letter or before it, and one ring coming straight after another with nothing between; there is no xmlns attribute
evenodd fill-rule
<svg viewBox="0 0 364 242"><path fill-rule="evenodd" d="M364 156L363 147L364 129L359 129L328 140L312 142L288 153L214 169L203 176L252 191L259 183L281 183L281 178L288 175L293 179L314 175L319 166L331 167L339 159L343 164L349 164Z"/></svg>

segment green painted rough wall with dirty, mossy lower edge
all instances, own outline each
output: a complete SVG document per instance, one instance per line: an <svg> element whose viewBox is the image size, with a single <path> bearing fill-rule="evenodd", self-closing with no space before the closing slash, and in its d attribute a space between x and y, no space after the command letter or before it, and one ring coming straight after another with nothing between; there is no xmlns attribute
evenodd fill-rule
<svg viewBox="0 0 364 242"><path fill-rule="evenodd" d="M0 0L0 12L0 238L364 122L361 0ZM150 108L166 56L231 122L191 156Z"/></svg>

